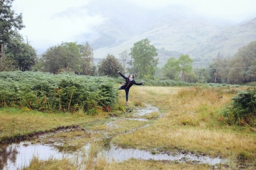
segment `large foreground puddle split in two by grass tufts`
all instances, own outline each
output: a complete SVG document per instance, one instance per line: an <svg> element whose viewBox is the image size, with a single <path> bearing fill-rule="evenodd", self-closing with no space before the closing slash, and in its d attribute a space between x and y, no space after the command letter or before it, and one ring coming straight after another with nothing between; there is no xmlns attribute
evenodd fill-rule
<svg viewBox="0 0 256 170"><path fill-rule="evenodd" d="M109 142L104 145L104 150L99 155L104 155L109 161L121 162L131 158L144 159L144 160L170 160L170 161L193 161L197 164L227 164L227 160L221 158L210 158L208 156L197 156L190 153L159 153L152 154L149 151L138 149L123 149L115 147ZM60 149L52 145L44 144L30 144L28 142L20 142L19 144L0 145L0 169L14 170L21 169L23 166L27 166L32 160L33 156L37 156L39 159L47 160L49 158L62 159L70 158L76 159L81 150L85 153L88 152L90 144L84 145L82 149L77 151L71 151L66 149ZM81 154L80 154L81 155Z"/></svg>

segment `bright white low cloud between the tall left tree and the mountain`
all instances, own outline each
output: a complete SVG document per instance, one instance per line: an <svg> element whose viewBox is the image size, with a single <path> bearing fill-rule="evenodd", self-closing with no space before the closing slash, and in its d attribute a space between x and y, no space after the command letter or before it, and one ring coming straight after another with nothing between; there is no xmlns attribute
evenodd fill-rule
<svg viewBox="0 0 256 170"><path fill-rule="evenodd" d="M81 33L92 33L93 28L104 21L100 14L88 14L85 6L89 1L14 2L13 8L16 13L22 13L26 26L20 33L27 36L39 52L61 42L82 41L79 39Z"/></svg>

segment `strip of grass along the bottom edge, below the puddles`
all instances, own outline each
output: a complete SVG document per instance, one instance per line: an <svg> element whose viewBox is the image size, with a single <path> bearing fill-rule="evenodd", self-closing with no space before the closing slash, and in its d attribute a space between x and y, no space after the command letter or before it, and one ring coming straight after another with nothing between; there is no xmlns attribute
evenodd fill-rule
<svg viewBox="0 0 256 170"><path fill-rule="evenodd" d="M29 167L24 168L24 170L79 170L77 166L70 163L66 159L57 160L57 159L49 159L49 160L39 160L36 157L31 161L31 165ZM123 161L122 163L112 162L109 163L106 159L97 159L94 161L94 165L85 166L80 169L104 169L104 170L159 170L159 169L168 169L168 170L177 170L177 169L186 169L186 170L212 170L214 166L204 165L204 164L184 164L178 163L175 161L155 161L155 160L137 160L130 159ZM228 168L219 168L219 169L228 169Z"/></svg>

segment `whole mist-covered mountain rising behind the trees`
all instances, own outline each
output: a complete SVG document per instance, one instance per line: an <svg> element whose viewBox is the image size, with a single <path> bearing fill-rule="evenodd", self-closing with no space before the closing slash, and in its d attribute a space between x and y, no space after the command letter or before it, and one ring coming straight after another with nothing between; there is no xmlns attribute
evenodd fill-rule
<svg viewBox="0 0 256 170"><path fill-rule="evenodd" d="M105 18L93 34L81 35L92 45L95 58L104 58L108 53L118 58L135 42L148 38L160 49L160 62L180 54L210 61L219 52L231 56L238 48L256 41L256 18L237 25L206 18L181 5L150 10L128 2L110 2L92 1L85 6L89 13Z"/></svg>

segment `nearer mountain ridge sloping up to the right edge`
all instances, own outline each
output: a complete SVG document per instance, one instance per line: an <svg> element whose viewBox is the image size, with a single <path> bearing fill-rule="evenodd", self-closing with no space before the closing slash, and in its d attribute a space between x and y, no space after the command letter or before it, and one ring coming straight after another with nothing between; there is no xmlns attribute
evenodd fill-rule
<svg viewBox="0 0 256 170"><path fill-rule="evenodd" d="M189 53L205 58L214 57L219 52L223 56L232 56L240 47L252 41L256 41L256 18L220 31L199 45L197 48L200 50L191 50Z"/></svg>

